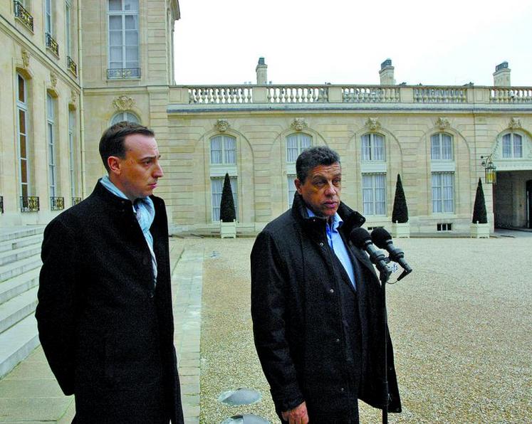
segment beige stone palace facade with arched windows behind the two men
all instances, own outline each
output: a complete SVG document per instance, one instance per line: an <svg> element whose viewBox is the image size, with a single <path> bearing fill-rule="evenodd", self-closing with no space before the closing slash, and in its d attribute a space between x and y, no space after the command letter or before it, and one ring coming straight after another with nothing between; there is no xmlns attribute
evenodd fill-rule
<svg viewBox="0 0 532 424"><path fill-rule="evenodd" d="M48 15L38 9L41 2L29 8L33 31L16 16L18 2L0 6L0 36L9 46L0 70L9 81L0 87L0 226L46 223L58 213L47 201L38 212L21 212L17 203L26 193L16 141L19 74L31 81L29 139L38 141L30 149L28 195L47 199L53 192L65 198L65 207L67 198L87 196L104 173L100 134L127 119L157 134L165 169L157 194L167 202L176 233L217 232L226 173L239 231L260 230L291 204L298 153L319 144L340 153L343 200L367 217L367 226L389 225L397 174L412 232L466 232L479 178L492 228L531 226L532 87L511 86L507 63L496 68L491 87L396 85L391 60L381 65L380 85L271 85L263 58L253 85L178 86L172 65L176 0L71 1L75 19L67 20L62 2L65 7L53 11L54 28L70 22L78 33L68 55L65 29L54 32L58 57L46 47ZM54 127L56 191L46 156L49 97L61 111ZM77 118L73 147L70 115ZM484 181L486 157L496 165L495 186Z"/></svg>

